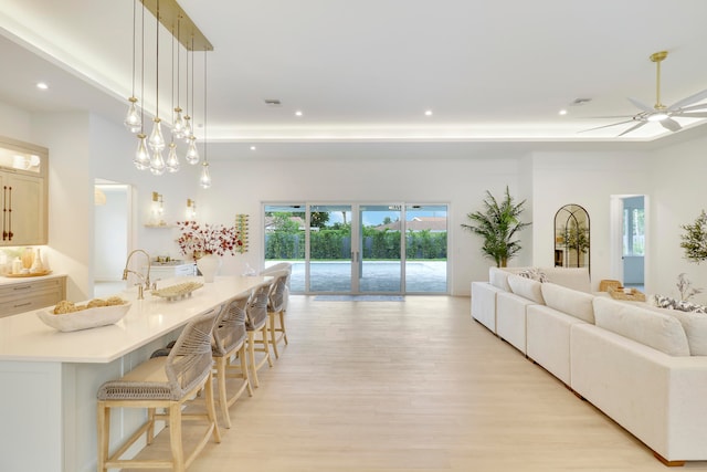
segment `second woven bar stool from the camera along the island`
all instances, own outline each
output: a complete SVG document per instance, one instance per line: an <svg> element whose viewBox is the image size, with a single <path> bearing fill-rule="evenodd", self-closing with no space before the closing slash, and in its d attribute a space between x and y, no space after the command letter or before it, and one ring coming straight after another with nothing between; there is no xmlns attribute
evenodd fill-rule
<svg viewBox="0 0 707 472"><path fill-rule="evenodd" d="M226 428L231 428L231 417L229 407L239 399L247 388L247 394L253 396L253 388L247 375L247 364L245 361L245 331L246 307L250 293L238 295L229 301L219 314L213 328L212 356L215 368L215 380L219 386L219 405ZM231 364L234 358L239 365ZM231 397L226 395L226 379L241 379L236 384L235 391Z"/></svg>

